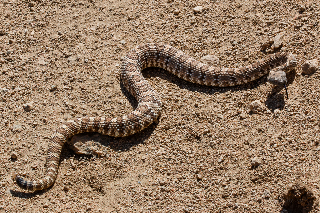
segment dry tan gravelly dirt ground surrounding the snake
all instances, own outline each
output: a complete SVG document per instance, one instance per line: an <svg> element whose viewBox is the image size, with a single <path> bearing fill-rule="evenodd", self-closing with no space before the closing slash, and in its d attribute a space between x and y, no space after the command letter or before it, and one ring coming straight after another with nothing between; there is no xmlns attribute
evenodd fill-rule
<svg viewBox="0 0 320 213"><path fill-rule="evenodd" d="M320 61L319 1L0 6L0 212L320 211L320 72L302 73L307 60ZM52 187L20 189L11 172L43 178L48 138L58 126L136 107L119 64L147 42L198 60L215 55L219 67L290 51L298 65L288 74L289 100L266 76L206 87L148 68L144 76L164 103L157 123L126 138L84 134L101 150L85 156L65 145Z"/></svg>

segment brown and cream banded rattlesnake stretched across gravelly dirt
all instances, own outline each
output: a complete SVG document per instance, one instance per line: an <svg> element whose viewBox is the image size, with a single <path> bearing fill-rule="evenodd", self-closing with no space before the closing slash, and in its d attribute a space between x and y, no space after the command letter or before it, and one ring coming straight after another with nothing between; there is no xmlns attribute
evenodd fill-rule
<svg viewBox="0 0 320 213"><path fill-rule="evenodd" d="M158 93L142 75L147 67L163 68L179 78L206 86L229 87L258 79L268 74L269 83L285 86L286 73L292 71L297 61L291 52L277 52L240 68L219 68L201 63L188 54L168 44L147 43L130 50L120 66L124 87L134 96L136 109L122 117L84 117L72 119L52 134L46 156L45 177L26 181L12 174L17 185L25 190L42 190L52 186L58 175L63 144L71 136L85 132L124 137L137 133L152 124L160 115L162 102Z"/></svg>

